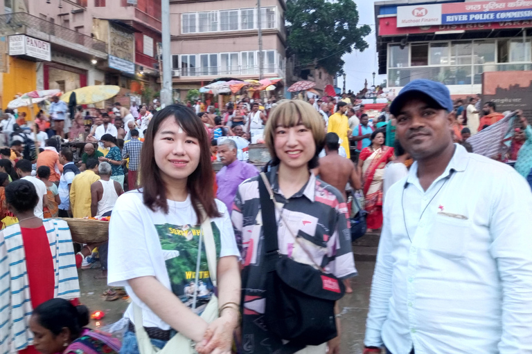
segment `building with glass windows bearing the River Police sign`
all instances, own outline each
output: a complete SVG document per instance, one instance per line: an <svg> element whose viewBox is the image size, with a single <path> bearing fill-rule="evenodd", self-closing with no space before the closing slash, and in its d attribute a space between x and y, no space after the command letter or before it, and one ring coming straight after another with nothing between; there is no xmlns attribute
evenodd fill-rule
<svg viewBox="0 0 532 354"><path fill-rule="evenodd" d="M530 2L375 2L379 74L396 92L411 80L443 82L452 95L482 92L482 73L532 70Z"/></svg>

